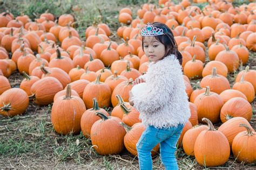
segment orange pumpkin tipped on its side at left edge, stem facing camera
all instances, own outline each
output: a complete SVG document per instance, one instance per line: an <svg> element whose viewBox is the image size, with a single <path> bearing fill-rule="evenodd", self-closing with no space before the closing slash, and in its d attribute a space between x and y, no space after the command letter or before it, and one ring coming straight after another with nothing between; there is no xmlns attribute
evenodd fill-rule
<svg viewBox="0 0 256 170"><path fill-rule="evenodd" d="M29 106L29 97L19 88L11 88L0 96L0 114L3 116L16 116L23 114Z"/></svg>

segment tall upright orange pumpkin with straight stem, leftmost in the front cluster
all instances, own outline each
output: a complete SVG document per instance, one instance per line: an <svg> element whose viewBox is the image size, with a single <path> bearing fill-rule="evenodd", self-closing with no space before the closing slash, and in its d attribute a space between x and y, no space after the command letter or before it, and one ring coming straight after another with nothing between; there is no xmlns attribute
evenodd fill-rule
<svg viewBox="0 0 256 170"><path fill-rule="evenodd" d="M71 87L66 88L66 96L59 97L51 109L51 122L57 133L79 133L80 120L86 110L83 100L71 96Z"/></svg>

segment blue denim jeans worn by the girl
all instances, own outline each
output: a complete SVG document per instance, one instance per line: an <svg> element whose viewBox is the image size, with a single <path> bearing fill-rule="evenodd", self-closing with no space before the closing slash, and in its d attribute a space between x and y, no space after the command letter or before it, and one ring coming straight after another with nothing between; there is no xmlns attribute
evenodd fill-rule
<svg viewBox="0 0 256 170"><path fill-rule="evenodd" d="M136 148L139 158L139 169L152 169L151 151L160 143L160 157L166 169L179 169L176 156L176 144L179 140L184 125L169 129L157 129L154 126L147 126L142 133Z"/></svg>

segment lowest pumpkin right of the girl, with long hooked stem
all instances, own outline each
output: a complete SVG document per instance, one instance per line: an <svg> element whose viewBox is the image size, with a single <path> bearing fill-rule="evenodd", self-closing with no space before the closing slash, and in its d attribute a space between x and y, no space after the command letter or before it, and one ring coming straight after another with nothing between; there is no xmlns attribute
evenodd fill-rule
<svg viewBox="0 0 256 170"><path fill-rule="evenodd" d="M225 164L230 157L230 145L223 133L214 129L211 121L207 122L208 129L203 130L194 143L194 155L197 162L204 167L219 166Z"/></svg>

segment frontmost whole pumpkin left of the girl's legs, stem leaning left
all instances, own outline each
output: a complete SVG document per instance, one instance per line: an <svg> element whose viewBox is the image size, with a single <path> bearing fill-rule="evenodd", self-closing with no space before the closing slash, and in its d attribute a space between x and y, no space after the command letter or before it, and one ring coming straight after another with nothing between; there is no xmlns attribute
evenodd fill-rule
<svg viewBox="0 0 256 170"><path fill-rule="evenodd" d="M91 141L93 148L100 155L119 154L124 149L125 129L119 123L118 117L106 116L96 112L101 119L91 128Z"/></svg>

